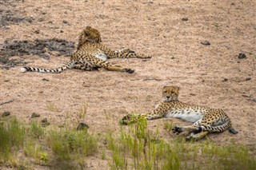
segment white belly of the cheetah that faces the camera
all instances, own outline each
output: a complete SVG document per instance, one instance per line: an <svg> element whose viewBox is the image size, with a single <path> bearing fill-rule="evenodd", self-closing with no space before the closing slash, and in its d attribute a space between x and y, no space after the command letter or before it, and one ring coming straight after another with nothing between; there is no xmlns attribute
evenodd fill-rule
<svg viewBox="0 0 256 170"><path fill-rule="evenodd" d="M187 111L184 109L180 110L169 110L166 113L166 117L174 117L178 119L182 119L183 121L196 122L202 119L204 113L200 111Z"/></svg>

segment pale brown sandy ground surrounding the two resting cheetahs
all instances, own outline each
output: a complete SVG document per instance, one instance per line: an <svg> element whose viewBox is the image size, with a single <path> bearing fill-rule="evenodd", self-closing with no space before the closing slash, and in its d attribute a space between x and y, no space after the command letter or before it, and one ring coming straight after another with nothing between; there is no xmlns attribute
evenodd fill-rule
<svg viewBox="0 0 256 170"><path fill-rule="evenodd" d="M29 122L40 113L63 125L66 112L88 105L91 132L118 132L127 113L146 113L162 100L164 85L178 85L180 100L224 109L237 135L210 135L221 144L256 144L256 2L251 0L3 0L0 2L0 113ZM56 68L69 61L78 34L92 26L111 49L147 53L150 60L114 59L135 73L71 69L59 74L21 73L22 65ZM210 45L202 45L208 41ZM245 53L245 58L238 58ZM58 110L50 111L54 106ZM77 121L75 118L73 121ZM166 121L149 121L171 142ZM200 142L200 141L199 141ZM106 167L90 157L88 167Z"/></svg>

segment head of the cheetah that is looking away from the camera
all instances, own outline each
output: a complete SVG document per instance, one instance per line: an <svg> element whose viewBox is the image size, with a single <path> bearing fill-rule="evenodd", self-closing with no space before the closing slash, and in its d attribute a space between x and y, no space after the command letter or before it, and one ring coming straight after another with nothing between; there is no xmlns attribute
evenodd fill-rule
<svg viewBox="0 0 256 170"><path fill-rule="evenodd" d="M86 29L82 30L82 33L79 35L78 48L85 42L102 42L101 34L98 30L86 26Z"/></svg>

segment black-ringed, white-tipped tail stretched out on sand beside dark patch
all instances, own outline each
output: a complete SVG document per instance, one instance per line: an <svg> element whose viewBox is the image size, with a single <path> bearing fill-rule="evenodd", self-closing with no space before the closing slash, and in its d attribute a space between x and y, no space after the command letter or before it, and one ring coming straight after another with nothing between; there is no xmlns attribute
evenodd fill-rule
<svg viewBox="0 0 256 170"><path fill-rule="evenodd" d="M34 67L22 67L21 72L25 73L26 71L30 72L39 72L39 73L62 73L66 69L72 69L74 67L75 61L70 61L67 65L59 67L57 69L40 69Z"/></svg>

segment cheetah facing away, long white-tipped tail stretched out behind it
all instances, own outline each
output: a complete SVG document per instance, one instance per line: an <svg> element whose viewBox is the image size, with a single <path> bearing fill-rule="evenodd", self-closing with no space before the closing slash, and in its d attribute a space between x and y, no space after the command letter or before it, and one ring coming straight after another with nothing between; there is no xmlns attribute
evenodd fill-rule
<svg viewBox="0 0 256 170"><path fill-rule="evenodd" d="M39 73L62 73L66 69L82 69L91 71L104 68L111 71L120 71L134 73L134 69L126 68L120 65L112 65L106 61L107 58L150 58L142 53L135 53L130 49L111 50L102 45L101 34L98 30L86 26L79 35L77 51L71 55L69 63L57 69L39 69L34 67L22 67L21 72L39 72Z"/></svg>

